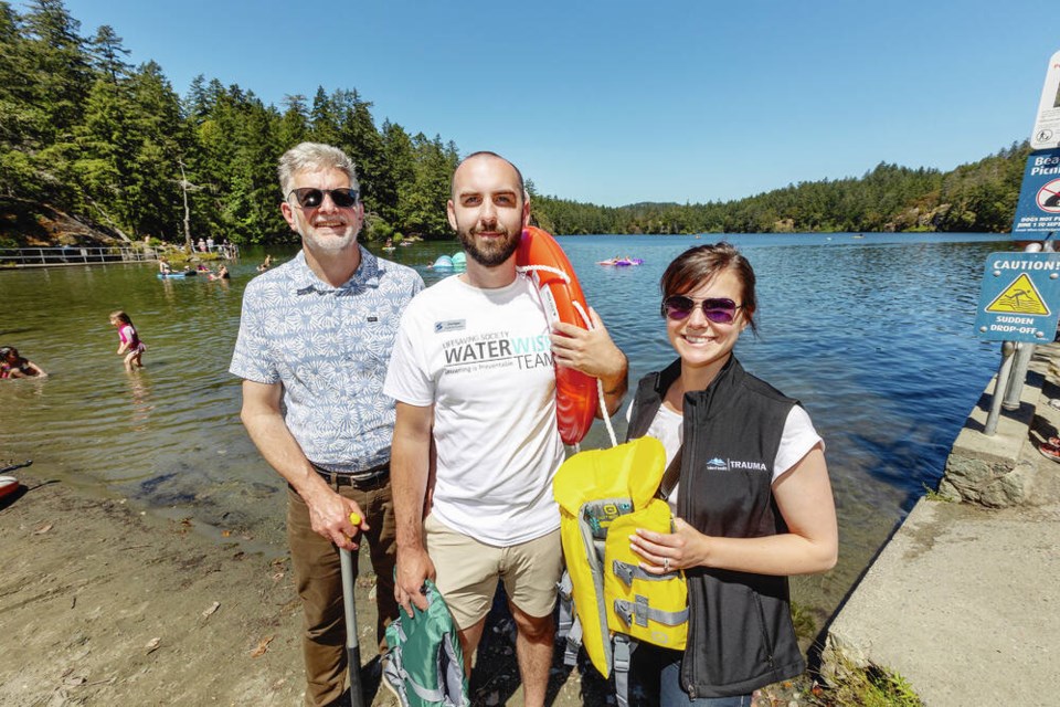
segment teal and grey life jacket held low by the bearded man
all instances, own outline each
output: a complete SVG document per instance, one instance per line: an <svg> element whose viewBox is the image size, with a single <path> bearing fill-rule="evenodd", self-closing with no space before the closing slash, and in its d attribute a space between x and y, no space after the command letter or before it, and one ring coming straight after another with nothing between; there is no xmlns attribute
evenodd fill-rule
<svg viewBox="0 0 1060 707"><path fill-rule="evenodd" d="M434 582L425 582L427 610L412 605L386 626L383 679L402 707L468 707L464 651L456 624Z"/></svg>

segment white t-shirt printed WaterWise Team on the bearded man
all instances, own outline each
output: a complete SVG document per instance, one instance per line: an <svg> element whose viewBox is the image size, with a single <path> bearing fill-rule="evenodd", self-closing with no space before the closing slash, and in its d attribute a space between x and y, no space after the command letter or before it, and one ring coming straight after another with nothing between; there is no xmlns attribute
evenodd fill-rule
<svg viewBox="0 0 1060 707"><path fill-rule="evenodd" d="M498 547L560 526L555 371L549 324L526 276L479 289L454 275L416 295L383 392L434 405L432 513L442 523Z"/></svg>

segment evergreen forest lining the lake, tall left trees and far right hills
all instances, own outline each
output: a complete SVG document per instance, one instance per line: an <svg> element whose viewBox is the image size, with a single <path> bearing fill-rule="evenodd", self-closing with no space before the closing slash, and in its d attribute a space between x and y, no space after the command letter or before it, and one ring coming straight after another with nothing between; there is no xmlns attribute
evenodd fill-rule
<svg viewBox="0 0 1060 707"><path fill-rule="evenodd" d="M62 0L0 0L0 247L25 242L47 210L125 240L294 241L275 165L301 140L358 165L364 238L451 239L453 141L377 123L356 88L280 106L198 76L179 95L153 61L130 64L112 27L82 34ZM806 231L1007 232L1030 148L1013 144L952 171L880 163L861 177L801 182L733 201L601 207L533 197L559 234ZM532 177L532 175L528 175Z"/></svg>

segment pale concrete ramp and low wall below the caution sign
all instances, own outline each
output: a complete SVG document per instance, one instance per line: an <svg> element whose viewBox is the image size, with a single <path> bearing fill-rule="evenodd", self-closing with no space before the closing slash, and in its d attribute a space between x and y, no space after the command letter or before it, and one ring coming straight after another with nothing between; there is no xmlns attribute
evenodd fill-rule
<svg viewBox="0 0 1060 707"><path fill-rule="evenodd" d="M929 707L1060 704L1060 345L1039 346L1017 410L984 434L995 381L940 484L922 498L835 615L826 679L875 665Z"/></svg>

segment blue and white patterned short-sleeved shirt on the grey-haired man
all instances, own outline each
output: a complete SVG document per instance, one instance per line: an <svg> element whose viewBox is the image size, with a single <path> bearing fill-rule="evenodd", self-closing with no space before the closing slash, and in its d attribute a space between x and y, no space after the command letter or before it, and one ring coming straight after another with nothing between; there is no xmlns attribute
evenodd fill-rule
<svg viewBox="0 0 1060 707"><path fill-rule="evenodd" d="M395 410L383 380L401 315L423 289L411 267L358 247L361 265L340 287L301 252L251 281L229 367L283 383L284 419L309 461L354 475L390 461Z"/></svg>

